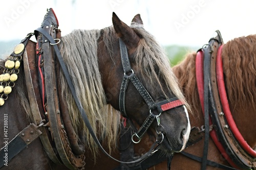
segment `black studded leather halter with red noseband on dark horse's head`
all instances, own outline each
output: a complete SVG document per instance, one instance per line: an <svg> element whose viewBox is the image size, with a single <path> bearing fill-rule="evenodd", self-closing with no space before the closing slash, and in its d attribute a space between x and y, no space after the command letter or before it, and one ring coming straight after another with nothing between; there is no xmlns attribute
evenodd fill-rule
<svg viewBox="0 0 256 170"><path fill-rule="evenodd" d="M142 83L139 81L138 77L134 74L134 71L131 67L127 48L124 44L124 42L119 38L119 44L120 44L120 53L121 53L121 60L122 60L122 66L124 71L123 81L121 84L120 89L120 95L119 95L119 108L122 115L127 118L129 121L131 127L134 130L134 135L132 136L132 140L134 143L138 143L142 136L145 134L147 129L150 127L150 125L154 122L154 120L157 118L158 120L158 126L160 125L159 122L159 116L163 111L182 106L184 105L182 101L177 99L176 97L167 99L158 103L155 103L152 99L150 93L146 90L146 88L142 85ZM129 80L133 83L133 85L136 87L136 89L139 91L140 95L148 105L148 109L150 110L150 114L147 116L146 120L144 121L143 125L140 127L139 130L135 127L129 116L127 115L125 111L125 92L127 89L127 86L129 84ZM158 114L154 114L152 110L157 110ZM161 135L163 140L163 133L158 132L158 135ZM138 141L134 140L134 136L138 138Z"/></svg>

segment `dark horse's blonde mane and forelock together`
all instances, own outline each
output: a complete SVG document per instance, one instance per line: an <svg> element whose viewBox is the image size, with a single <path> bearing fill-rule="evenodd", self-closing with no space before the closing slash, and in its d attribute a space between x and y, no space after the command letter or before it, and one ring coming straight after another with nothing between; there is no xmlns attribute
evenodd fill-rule
<svg viewBox="0 0 256 170"><path fill-rule="evenodd" d="M158 85L162 91L172 90L179 99L185 101L163 48L161 48L154 37L143 28L136 25L133 26L133 29L141 35L142 38L135 52L135 59L138 68L140 68L140 71L144 74L143 77L147 81L150 81L148 84L153 86ZM111 148L116 147L120 114L111 106L106 106L101 75L98 70L97 40L102 32L105 46L113 59L113 43L118 38L113 27L108 27L101 31L74 30L69 35L62 37L60 51L63 60L67 63L82 107L89 114L88 117L94 131L98 132L98 134L102 134L100 136L102 139L107 138L108 145ZM113 62L115 61L113 60ZM156 65L159 68L158 73L154 69ZM60 79L62 82L62 95L65 96L68 101L68 108L69 112L72 114L71 117L75 130L77 132L82 129L84 130L84 135L87 137L87 144L90 146L90 149L96 153L97 147L95 142L83 124L83 120L74 104L71 94L67 93L69 90L66 80L62 75ZM163 89L160 79L165 80L165 87L168 89Z"/></svg>

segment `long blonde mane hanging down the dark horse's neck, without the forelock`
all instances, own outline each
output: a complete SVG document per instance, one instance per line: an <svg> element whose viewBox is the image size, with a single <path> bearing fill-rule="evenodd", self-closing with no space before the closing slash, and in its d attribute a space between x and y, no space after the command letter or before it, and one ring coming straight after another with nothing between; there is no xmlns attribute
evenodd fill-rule
<svg viewBox="0 0 256 170"><path fill-rule="evenodd" d="M116 147L120 114L106 105L97 60L99 37L99 30L74 30L61 38L60 52L69 70L78 99L87 113L94 132L100 139L108 139L111 150ZM67 100L74 130L76 134L83 133L83 136L86 136L86 146L96 155L97 145L83 123L63 74L60 74L60 80L62 96Z"/></svg>

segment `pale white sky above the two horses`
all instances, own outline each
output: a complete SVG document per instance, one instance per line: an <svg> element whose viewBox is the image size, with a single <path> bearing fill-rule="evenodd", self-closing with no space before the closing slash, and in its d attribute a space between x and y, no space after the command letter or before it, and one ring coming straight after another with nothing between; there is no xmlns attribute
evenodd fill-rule
<svg viewBox="0 0 256 170"><path fill-rule="evenodd" d="M144 28L162 45L202 46L215 30L224 42L256 33L256 1L221 0L9 0L0 7L0 41L22 40L53 8L61 34L112 25L112 12L130 25L140 13Z"/></svg>

